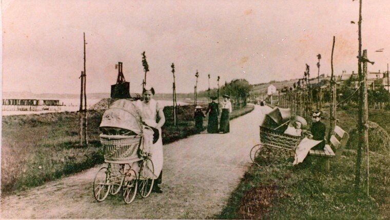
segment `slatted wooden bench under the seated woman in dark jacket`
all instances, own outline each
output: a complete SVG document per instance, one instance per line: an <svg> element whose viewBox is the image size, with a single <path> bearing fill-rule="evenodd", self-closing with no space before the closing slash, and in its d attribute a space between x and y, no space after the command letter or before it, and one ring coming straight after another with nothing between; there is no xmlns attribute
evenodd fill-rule
<svg viewBox="0 0 390 220"><path fill-rule="evenodd" d="M345 144L348 141L348 138L348 133L341 129L341 127L336 125L332 136L330 136L330 144L325 144L323 150L310 150L309 155L326 157L326 163L324 164L324 166L326 166L326 169L329 171L329 158L334 156L341 156ZM333 150L337 150L336 154Z"/></svg>

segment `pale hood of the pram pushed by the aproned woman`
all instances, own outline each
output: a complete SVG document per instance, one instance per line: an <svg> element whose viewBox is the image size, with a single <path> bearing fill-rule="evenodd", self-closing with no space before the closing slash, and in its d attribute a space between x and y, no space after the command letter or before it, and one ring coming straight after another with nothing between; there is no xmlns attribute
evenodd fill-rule
<svg viewBox="0 0 390 220"><path fill-rule="evenodd" d="M99 127L115 127L140 134L142 122L135 102L127 99L120 99L113 102L104 112Z"/></svg>

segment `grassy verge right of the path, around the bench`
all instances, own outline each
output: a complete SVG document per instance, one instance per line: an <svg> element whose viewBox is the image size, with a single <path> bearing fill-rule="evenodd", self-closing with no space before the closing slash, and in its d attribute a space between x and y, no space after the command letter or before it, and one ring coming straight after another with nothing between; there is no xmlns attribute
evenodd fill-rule
<svg viewBox="0 0 390 220"><path fill-rule="evenodd" d="M356 124L353 111L340 111L339 125ZM371 111L370 120L387 133L390 113ZM375 144L375 143L370 143ZM389 152L370 153L370 196L365 194L365 156L361 191L354 193L356 151L330 158L330 172L320 169L321 158L309 157L299 166L252 166L232 193L219 219L388 219L390 218Z"/></svg>

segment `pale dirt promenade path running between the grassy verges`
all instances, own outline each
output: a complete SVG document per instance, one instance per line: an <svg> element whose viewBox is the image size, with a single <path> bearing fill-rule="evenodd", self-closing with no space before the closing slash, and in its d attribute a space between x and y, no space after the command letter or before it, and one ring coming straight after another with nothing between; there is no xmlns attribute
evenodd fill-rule
<svg viewBox="0 0 390 220"><path fill-rule="evenodd" d="M226 205L259 141L267 106L230 121L228 134L199 134L164 145L164 193L139 195L126 205L120 194L98 203L92 194L96 166L2 198L0 218L210 218Z"/></svg>

